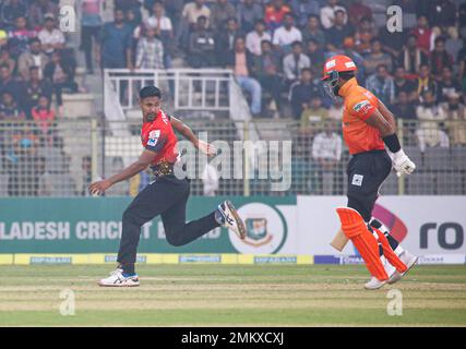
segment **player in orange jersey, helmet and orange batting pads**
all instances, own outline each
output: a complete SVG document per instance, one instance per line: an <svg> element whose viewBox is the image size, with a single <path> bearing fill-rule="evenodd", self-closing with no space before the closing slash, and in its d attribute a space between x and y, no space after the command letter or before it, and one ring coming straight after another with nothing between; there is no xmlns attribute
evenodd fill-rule
<svg viewBox="0 0 466 349"><path fill-rule="evenodd" d="M379 189L392 167L402 176L413 173L416 165L401 147L394 116L358 85L356 70L349 57L334 56L326 60L322 80L332 97L344 99L343 137L351 159L347 167L348 204L336 210L344 238L351 240L372 276L365 285L372 290L396 282L417 261L372 218Z"/></svg>

